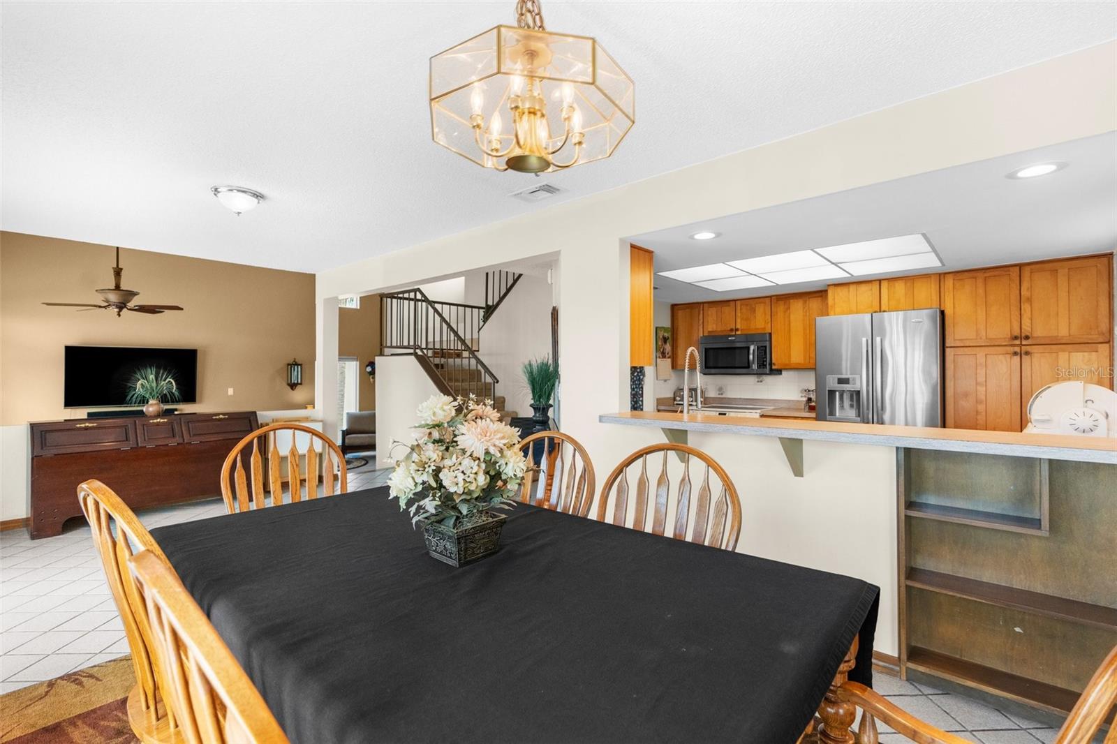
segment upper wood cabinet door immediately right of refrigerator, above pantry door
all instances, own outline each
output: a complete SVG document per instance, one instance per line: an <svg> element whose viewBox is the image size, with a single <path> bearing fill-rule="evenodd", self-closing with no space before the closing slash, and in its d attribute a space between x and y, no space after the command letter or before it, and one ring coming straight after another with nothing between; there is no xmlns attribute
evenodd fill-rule
<svg viewBox="0 0 1117 744"><path fill-rule="evenodd" d="M947 346L1019 344L1020 267L944 274L943 311Z"/></svg>

